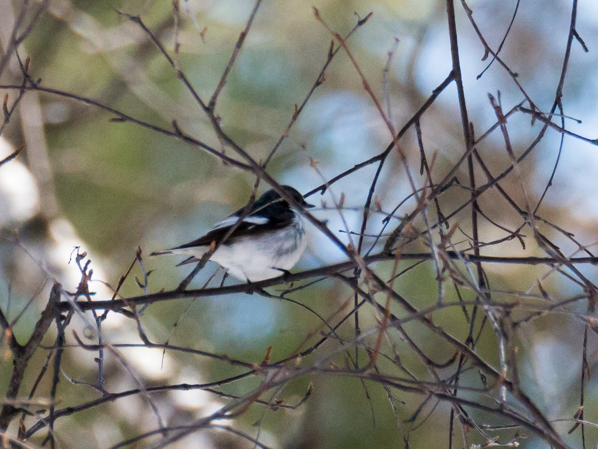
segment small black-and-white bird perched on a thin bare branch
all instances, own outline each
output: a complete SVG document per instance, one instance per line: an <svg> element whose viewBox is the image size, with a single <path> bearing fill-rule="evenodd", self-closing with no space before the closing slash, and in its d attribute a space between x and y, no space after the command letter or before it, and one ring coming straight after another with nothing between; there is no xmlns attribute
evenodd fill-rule
<svg viewBox="0 0 598 449"><path fill-rule="evenodd" d="M298 204L312 208L291 186L280 186ZM306 228L301 213L274 189L260 196L254 204L240 208L200 238L169 248L154 251L150 256L183 254L189 256L176 266L199 262L215 247L209 260L218 263L228 274L240 281L254 283L287 274L306 248ZM224 241L231 227L237 225Z"/></svg>

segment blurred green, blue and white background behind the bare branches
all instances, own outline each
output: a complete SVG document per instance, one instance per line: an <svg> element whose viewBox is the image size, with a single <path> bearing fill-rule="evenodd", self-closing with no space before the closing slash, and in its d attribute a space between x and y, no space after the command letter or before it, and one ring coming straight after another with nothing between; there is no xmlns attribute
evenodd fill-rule
<svg viewBox="0 0 598 449"><path fill-rule="evenodd" d="M0 40L5 49L22 4L0 0L0 5ZM517 80L537 107L550 111L562 71L571 2L532 0L518 4L514 0L472 0L468 5L492 48L501 43L518 7L501 56L517 72ZM367 24L359 28L347 44L374 93L390 111L389 117L397 129L449 75L451 59L444 2L321 0L313 2L313 6L341 35L346 35L359 18L373 12ZM209 99L253 7L254 2L245 0L181 1L180 14L175 21L172 2L51 0L47 11L41 14L19 47L20 54L30 56L30 72L33 78L41 78L44 87L96 99L166 129L172 129L170 123L176 119L186 133L220 148L208 118L163 55L139 26L115 10L141 16L171 54L178 39L176 64L202 98ZM484 48L460 3L456 2L455 7L469 119L476 136L480 136L496 122L487 93L497 96L498 91L501 92L504 111L524 98L497 62L477 79L490 58L481 60ZM576 30L590 51L585 53L581 45L573 42L562 101L564 113L582 123L566 119L566 125L572 132L596 138L596 2L579 2ZM216 107L224 131L255 160L266 159L291 120L294 104L301 104L318 79L330 41L331 35L314 17L312 3L267 0L261 5ZM392 60L385 75L389 51ZM325 82L316 89L267 166L267 171L280 183L291 184L302 193L379 154L391 141L388 129L343 51L335 56L325 73ZM385 76L388 77L386 82ZM2 74L2 84L20 84L21 80L19 65L13 57ZM14 90L1 93L8 93L10 101L16 98ZM69 291L77 288L80 272L74 262L69 263L75 246L81 247L81 252L87 251L91 259L94 282L90 288L96 292L95 298L109 299L109 286L115 287L135 260L138 246L147 255L152 250L199 237L213 223L245 205L255 182L253 175L224 165L197 147L131 123L111 123L109 119L113 114L81 102L28 92L17 112L5 129L0 145L0 159L19 145L27 145L16 160L0 168L0 307L6 311L10 305L8 315L14 318L32 302L14 327L18 338L25 339L31 332L47 301L51 280L59 280ZM555 121L560 123L560 119ZM439 181L464 150L454 84L426 111L421 123L426 154L429 160L435 154L433 172ZM520 154L527 148L540 129L541 123L532 122L522 113L509 119L515 153ZM560 140L557 131L548 129L520 165L526 193L535 205L560 158L552 186L538 214L575 234L582 245L593 251L598 241L595 195L598 148L565 136L562 151L559 151ZM420 151L413 128L401 139L401 145L418 186L423 186L426 178L419 176ZM492 162L490 169L494 174L508 167L510 159L500 132L490 135L478 149L486 163ZM231 150L227 154L234 155ZM319 162L317 170L310 163L312 160ZM376 165L361 169L334 184L326 195L318 194L310 200L330 206L344 193L343 217L329 207L318 208L315 215L328 220L329 229L334 232L346 227L359 232L367 186L375 170ZM468 185L465 165L456 177L460 184ZM478 179L485 183L481 171ZM523 201L517 177L509 176L501 185L515 199ZM266 189L262 183L258 193ZM410 192L404 166L393 151L376 189L382 210L392 210ZM451 211L468 196L465 189L450 190L442 198L443 207ZM396 216L405 216L414 204L405 202ZM492 189L481 196L480 207L508 229L521 225L521 217ZM384 217L384 214L374 214L367 233L379 232ZM465 235L471 232L468 210L454 220L459 222ZM495 241L506 235L490 223L481 223L481 241ZM575 244L554 229L547 229L547 235L567 256L578 251ZM346 233L339 232L338 236L347 241ZM366 239L365 248L373 242L374 239ZM514 239L501 244L500 253L489 249L485 254L544 255L532 239L526 242L525 249ZM306 253L294 271L338 260L343 260L343 254L324 235L311 229ZM175 268L178 262L176 257L145 257L145 268L153 270L149 291L176 287L190 271L188 267ZM401 268L408 266L408 263L402 264ZM192 286L202 286L214 269L215 265L209 263ZM379 269L388 277L392 265L380 264ZM492 287L504 292L538 293L536 281L541 279L554 298L581 293L578 284L544 266L522 268L490 264L486 269ZM580 269L590 280L596 280L595 266ZM140 279L143 277L139 267L133 274ZM216 284L218 281L219 278ZM399 278L395 288L412 298L417 307L434 304L437 282L433 265L423 264L408 271ZM124 296L141 293L143 290L133 277L121 289ZM453 298L454 293L448 295ZM329 317L344 302L352 301L352 293L343 284L327 280L294 293L292 298ZM504 293L504 299L512 299L512 296ZM571 418L579 405L584 322L575 315L585 311L584 304L573 305L566 314L544 314L518 328L521 382L550 419ZM363 313L361 318L364 327L376 324L371 311ZM465 320L456 309L443 311L437 320L453 335L466 336ZM79 321L77 326L86 330L89 323L80 318ZM348 338L354 332L352 320L349 321L340 332ZM148 307L142 322L155 341L169 338L172 344L226 353L255 363L261 362L270 345L273 359L282 359L297 347L307 347L306 338L310 344L315 342L318 336L312 333L320 326L318 318L303 308L258 295L161 302ZM120 315L110 314L104 330L111 342L139 342L135 323ZM419 327L412 330L417 338L425 340L425 331ZM69 336L69 342L74 343L71 340ZM590 335L591 368L596 361L594 341L594 335ZM438 360L452 356L446 345L430 342L423 343L422 347L428 356ZM334 348L335 344L331 343L330 350ZM496 363L496 339L490 326L484 330L477 351ZM173 351L166 351L164 358L161 350L148 348L123 348L122 353L139 377L152 385L215 381L241 371L224 363ZM45 356L40 351L32 360L30 372L33 374L23 386L24 395L35 381ZM97 374L94 356L96 353L81 348L66 351L65 376L93 383ZM342 357L339 360L342 365ZM418 365L413 354L405 354L402 362L425 377L425 369ZM108 359L107 363L106 388L109 391L136 386L135 380L116 360ZM5 356L0 363L3 389L10 370L10 359ZM475 382L477 374L469 372L464 378L468 376ZM257 379L249 379L222 390L243 395L257 383ZM313 395L301 408L271 411L254 406L235 425L254 437L259 432L260 441L271 447L404 447L404 435L409 435L411 447L415 448L448 445L450 408L446 404L426 409L428 419L423 420L420 415L416 422L410 423L408 420L422 402L419 396L396 393L395 415L380 386L368 386L371 396L368 400L361 383L355 379L317 375L288 384L279 396L289 404L297 402L309 383L313 384ZM40 388L44 385L47 391L49 384L42 382ZM589 421L596 420L595 387L595 380L590 379L585 399L585 419ZM89 401L97 395L89 386L71 384L66 377L59 384L59 406L80 404L83 399ZM156 398L160 413L169 423L202 417L226 401L198 391L163 393ZM486 418L475 412L473 415ZM422 426L414 429L417 424ZM82 447L81 441L86 441L84 447L109 447L152 430L156 425L154 412L144 399L131 396L60 418L56 422L56 434L59 447ZM554 425L560 433L566 433L571 423ZM456 435L456 441L462 441L459 431ZM593 444L598 441L594 430L587 429L587 435ZM579 447L579 433L566 438L573 447ZM33 439L33 442L39 444L41 439ZM484 440L472 435L470 442L483 444ZM545 447L544 442L532 435L520 442L521 447ZM172 447L252 447L252 444L228 433L210 430L196 432Z"/></svg>

